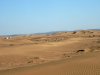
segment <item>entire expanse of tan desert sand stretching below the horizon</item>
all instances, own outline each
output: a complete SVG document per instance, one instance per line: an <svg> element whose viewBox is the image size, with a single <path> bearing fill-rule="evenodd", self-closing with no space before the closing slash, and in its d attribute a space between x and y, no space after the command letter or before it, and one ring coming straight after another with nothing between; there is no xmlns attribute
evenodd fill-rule
<svg viewBox="0 0 100 75"><path fill-rule="evenodd" d="M100 75L100 31L0 37L0 75Z"/></svg>

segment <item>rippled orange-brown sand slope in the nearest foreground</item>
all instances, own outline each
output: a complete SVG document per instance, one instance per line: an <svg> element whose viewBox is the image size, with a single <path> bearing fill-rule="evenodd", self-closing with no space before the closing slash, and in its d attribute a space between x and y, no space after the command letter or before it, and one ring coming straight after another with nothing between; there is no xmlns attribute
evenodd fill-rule
<svg viewBox="0 0 100 75"><path fill-rule="evenodd" d="M1 71L1 75L100 75L100 52L43 65Z"/></svg>

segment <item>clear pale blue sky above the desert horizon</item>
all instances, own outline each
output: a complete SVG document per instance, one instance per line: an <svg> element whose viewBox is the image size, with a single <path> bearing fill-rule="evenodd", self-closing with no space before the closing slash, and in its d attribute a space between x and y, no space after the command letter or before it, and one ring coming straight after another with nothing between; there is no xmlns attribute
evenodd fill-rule
<svg viewBox="0 0 100 75"><path fill-rule="evenodd" d="M100 28L100 0L0 0L0 34Z"/></svg>

